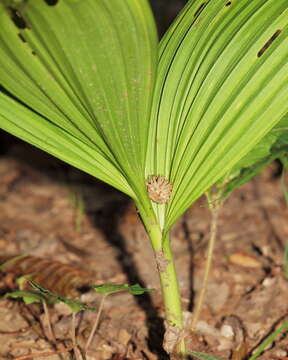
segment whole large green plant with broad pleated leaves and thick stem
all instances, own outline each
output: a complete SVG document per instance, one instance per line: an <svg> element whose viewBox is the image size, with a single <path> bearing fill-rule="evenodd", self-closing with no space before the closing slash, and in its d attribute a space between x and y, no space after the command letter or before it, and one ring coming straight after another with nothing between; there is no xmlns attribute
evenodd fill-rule
<svg viewBox="0 0 288 360"><path fill-rule="evenodd" d="M133 199L168 353L186 354L171 228L287 114L287 7L190 0L158 43L147 0L0 4L0 127Z"/></svg>

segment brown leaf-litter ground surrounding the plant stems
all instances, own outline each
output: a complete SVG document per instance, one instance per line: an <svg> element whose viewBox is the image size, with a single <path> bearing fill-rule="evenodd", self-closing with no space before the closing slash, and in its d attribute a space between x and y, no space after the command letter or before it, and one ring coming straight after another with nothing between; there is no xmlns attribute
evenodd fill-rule
<svg viewBox="0 0 288 360"><path fill-rule="evenodd" d="M288 320L287 219L277 163L226 201L206 299L196 331L187 335L189 349L242 360ZM209 226L209 209L201 198L172 231L187 323L201 289ZM22 142L0 157L0 255L4 261L19 254L36 260L22 270L15 263L1 272L1 295L16 289L17 278L28 274L42 286L77 295L96 308L101 294L87 291L88 282L155 288L144 295L120 292L106 298L87 360L168 359L162 350L164 311L155 258L133 203ZM70 310L56 304L49 313L56 344L49 340L41 304L25 305L1 296L0 359L73 359L71 352L56 353L72 345ZM92 311L76 316L80 347L95 317ZM284 332L259 359L287 357Z"/></svg>

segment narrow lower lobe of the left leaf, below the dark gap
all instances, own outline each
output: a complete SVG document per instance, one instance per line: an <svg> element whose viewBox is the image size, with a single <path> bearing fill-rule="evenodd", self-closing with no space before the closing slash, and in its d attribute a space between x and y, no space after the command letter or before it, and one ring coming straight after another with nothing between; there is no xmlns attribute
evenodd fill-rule
<svg viewBox="0 0 288 360"><path fill-rule="evenodd" d="M16 100L0 92L0 126L59 159L134 196L126 179L105 156Z"/></svg>

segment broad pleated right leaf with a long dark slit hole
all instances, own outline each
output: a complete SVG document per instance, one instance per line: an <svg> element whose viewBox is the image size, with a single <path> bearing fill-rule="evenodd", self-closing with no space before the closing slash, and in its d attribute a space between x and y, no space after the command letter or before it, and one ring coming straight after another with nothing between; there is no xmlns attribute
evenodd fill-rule
<svg viewBox="0 0 288 360"><path fill-rule="evenodd" d="M146 177L167 229L288 111L286 0L189 1L160 44ZM157 139L157 141L155 141Z"/></svg>

